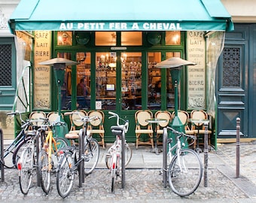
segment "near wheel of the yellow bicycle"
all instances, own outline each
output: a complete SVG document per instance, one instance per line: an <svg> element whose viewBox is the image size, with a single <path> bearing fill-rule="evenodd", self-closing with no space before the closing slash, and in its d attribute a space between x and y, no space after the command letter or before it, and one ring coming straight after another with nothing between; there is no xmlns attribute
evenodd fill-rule
<svg viewBox="0 0 256 203"><path fill-rule="evenodd" d="M38 175L41 182L41 188L46 194L50 191L50 167L48 161L48 154L42 149L38 156Z"/></svg>

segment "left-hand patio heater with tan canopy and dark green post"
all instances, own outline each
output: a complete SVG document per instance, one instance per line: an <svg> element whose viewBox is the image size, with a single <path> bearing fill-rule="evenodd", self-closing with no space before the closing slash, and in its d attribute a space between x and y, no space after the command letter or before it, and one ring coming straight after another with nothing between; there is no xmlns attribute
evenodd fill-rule
<svg viewBox="0 0 256 203"><path fill-rule="evenodd" d="M58 120L62 120L61 117L61 86L64 82L65 68L66 65L76 65L77 62L71 61L69 59L54 58L44 62L39 62L40 65L53 65L54 77L56 80L56 85L58 86Z"/></svg>

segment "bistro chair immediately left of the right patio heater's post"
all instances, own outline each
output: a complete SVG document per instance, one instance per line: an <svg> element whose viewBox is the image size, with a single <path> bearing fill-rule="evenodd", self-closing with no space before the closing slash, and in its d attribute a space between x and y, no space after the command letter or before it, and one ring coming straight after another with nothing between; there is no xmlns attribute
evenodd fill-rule
<svg viewBox="0 0 256 203"><path fill-rule="evenodd" d="M154 117L157 119L164 119L166 122L160 122L157 124L156 133L157 133L157 144L162 144L159 142L160 135L163 135L163 128L169 126L172 121L172 114L169 111L157 111L154 114Z"/></svg>

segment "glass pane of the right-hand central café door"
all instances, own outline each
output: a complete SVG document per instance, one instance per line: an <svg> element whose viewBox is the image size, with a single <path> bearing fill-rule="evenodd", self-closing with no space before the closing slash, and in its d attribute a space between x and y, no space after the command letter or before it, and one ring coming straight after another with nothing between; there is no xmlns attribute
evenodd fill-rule
<svg viewBox="0 0 256 203"><path fill-rule="evenodd" d="M121 53L122 109L142 107L142 53Z"/></svg>

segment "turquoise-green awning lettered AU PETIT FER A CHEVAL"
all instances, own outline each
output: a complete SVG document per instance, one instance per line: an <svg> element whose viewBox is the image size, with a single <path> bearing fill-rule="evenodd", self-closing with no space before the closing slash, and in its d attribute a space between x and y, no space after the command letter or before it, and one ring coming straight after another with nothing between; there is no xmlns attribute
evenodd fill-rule
<svg viewBox="0 0 256 203"><path fill-rule="evenodd" d="M9 21L11 32L230 31L220 0L21 0Z"/></svg>

